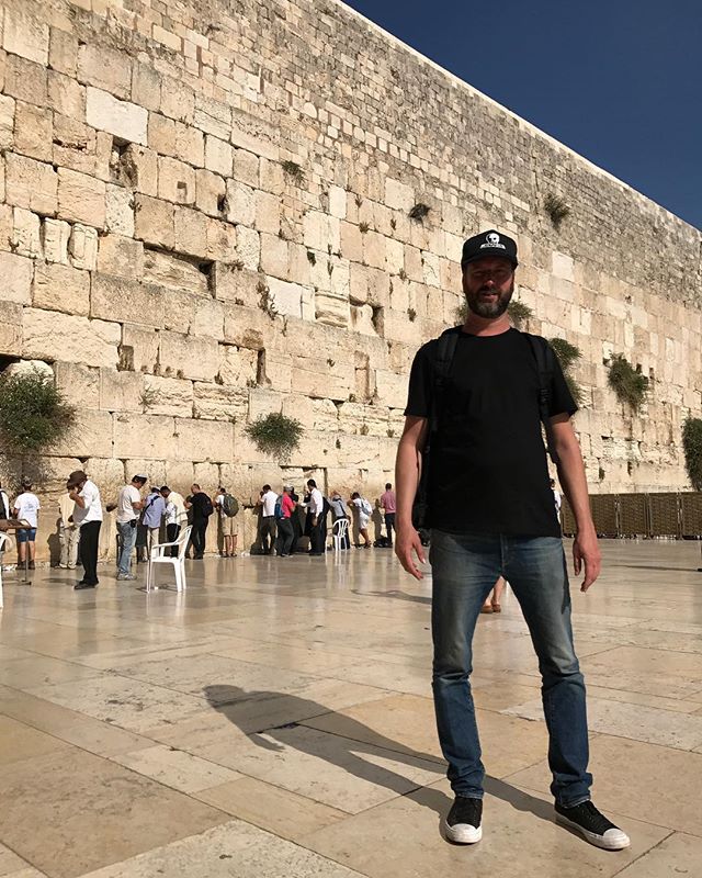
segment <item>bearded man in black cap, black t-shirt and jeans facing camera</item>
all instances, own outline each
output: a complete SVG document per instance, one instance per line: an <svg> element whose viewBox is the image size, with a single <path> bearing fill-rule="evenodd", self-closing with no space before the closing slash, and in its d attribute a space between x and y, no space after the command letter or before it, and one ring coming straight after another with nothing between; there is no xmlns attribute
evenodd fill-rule
<svg viewBox="0 0 702 878"><path fill-rule="evenodd" d="M629 837L590 800L585 685L573 645L566 563L541 434L545 379L530 338L511 328L507 315L517 245L489 230L464 244L461 264L468 316L465 326L451 330L455 347L450 365L438 340L415 358L396 469L396 553L405 570L421 578L412 552L421 562L424 553L411 509L431 436L432 687L455 793L444 830L453 842L472 844L482 837L485 769L471 695L472 641L480 606L502 575L520 603L539 656L556 819L598 847L620 849L629 846ZM548 417L543 417L577 522L574 566L576 575L584 569L581 590L587 592L600 572L600 551L570 423L577 406L556 358L550 349L546 353ZM430 418L440 429L430 428Z"/></svg>

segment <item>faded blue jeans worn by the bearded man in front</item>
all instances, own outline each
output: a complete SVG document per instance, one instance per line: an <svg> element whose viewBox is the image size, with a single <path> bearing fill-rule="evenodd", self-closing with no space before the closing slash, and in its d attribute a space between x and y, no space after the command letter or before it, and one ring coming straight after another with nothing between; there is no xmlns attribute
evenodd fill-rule
<svg viewBox="0 0 702 878"><path fill-rule="evenodd" d="M512 587L539 657L551 791L564 807L590 798L585 683L573 645L570 593L557 537L431 534L432 688L439 741L455 793L483 798L485 768L469 676L473 632L498 576Z"/></svg>

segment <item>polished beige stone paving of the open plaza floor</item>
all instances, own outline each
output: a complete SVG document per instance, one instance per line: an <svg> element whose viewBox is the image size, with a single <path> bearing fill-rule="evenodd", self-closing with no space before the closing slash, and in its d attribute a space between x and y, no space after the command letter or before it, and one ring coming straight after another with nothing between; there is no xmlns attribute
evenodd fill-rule
<svg viewBox="0 0 702 878"><path fill-rule="evenodd" d="M476 634L484 841L448 844L431 581L387 551L189 562L147 596L102 572L4 575L0 876L664 878L702 874L697 543L603 543L574 589L595 798L632 837L555 825L530 640L511 594Z"/></svg>

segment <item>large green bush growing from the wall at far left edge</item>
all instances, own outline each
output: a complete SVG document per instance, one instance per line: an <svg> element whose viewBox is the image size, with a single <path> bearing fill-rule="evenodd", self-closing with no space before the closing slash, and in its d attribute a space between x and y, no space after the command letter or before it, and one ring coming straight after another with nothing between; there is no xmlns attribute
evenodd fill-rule
<svg viewBox="0 0 702 878"><path fill-rule="evenodd" d="M43 451L69 430L75 408L49 375L32 369L0 378L0 435L9 451Z"/></svg>

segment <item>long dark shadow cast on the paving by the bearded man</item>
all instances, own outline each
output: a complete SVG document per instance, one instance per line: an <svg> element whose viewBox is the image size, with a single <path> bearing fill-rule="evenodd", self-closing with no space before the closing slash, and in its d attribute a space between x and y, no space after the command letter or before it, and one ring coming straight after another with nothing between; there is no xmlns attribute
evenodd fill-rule
<svg viewBox="0 0 702 878"><path fill-rule="evenodd" d="M411 793L415 801L434 811L441 818L445 817L451 808L452 799L441 790L421 786L417 781L410 780L389 768L375 765L371 761L373 757L377 757L377 748L389 751L395 762L403 763L408 767L431 770L433 765L437 770L437 780L439 780L444 774L445 763L434 754L411 750L346 716L341 717L343 724L339 732L327 733L329 734L330 743L335 745L333 748L329 751L320 750L317 735L291 734L291 730L298 728L303 720L333 714L335 711L330 711L324 705L287 693L247 691L239 686L225 684L206 686L204 694L214 710L226 717L253 744L263 750L281 753L285 748L294 747L301 753L306 753L315 758L326 759L331 765L343 768L349 774L370 784L385 787L397 796ZM284 700L285 712L290 716L291 722L265 728L265 723L262 721L260 728L252 731L251 723L245 720L246 706L250 705L251 701L273 699ZM312 732L318 731L314 727L303 728L308 728ZM363 758L364 755L370 758ZM510 803L519 811L529 811L542 820L553 822L553 808L547 802L530 796L498 778L486 777L485 790L491 796Z"/></svg>

